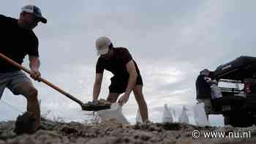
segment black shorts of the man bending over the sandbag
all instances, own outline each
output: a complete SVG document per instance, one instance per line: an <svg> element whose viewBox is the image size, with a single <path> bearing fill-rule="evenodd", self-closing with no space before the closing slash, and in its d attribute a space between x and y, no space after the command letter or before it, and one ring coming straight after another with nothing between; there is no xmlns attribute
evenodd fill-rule
<svg viewBox="0 0 256 144"><path fill-rule="evenodd" d="M110 93L124 93L124 91L127 88L128 85L128 81L129 81L129 77L116 77L113 76L111 77L111 84L108 87ZM137 77L137 81L136 81L136 85L142 85L143 86L143 81L142 81L142 77L140 75L138 75Z"/></svg>

